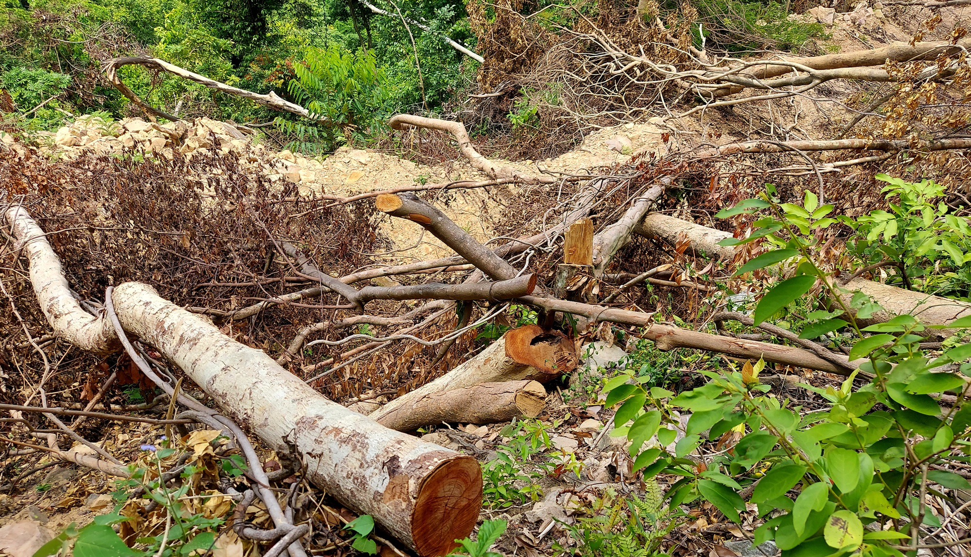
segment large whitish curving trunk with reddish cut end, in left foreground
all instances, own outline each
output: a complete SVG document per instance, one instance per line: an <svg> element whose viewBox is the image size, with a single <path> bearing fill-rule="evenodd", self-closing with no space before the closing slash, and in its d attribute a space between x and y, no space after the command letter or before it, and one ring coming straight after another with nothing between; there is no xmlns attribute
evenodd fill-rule
<svg viewBox="0 0 971 557"><path fill-rule="evenodd" d="M84 314L43 232L36 234L36 222L21 207L6 215L17 240L26 240L35 293L54 333L109 353L117 344L108 333L112 325L103 316ZM471 533L482 505L475 459L391 431L323 398L262 350L232 341L147 284L125 282L112 301L124 331L182 368L268 446L281 453L295 450L313 483L374 516L419 555L444 555L456 538Z"/></svg>

